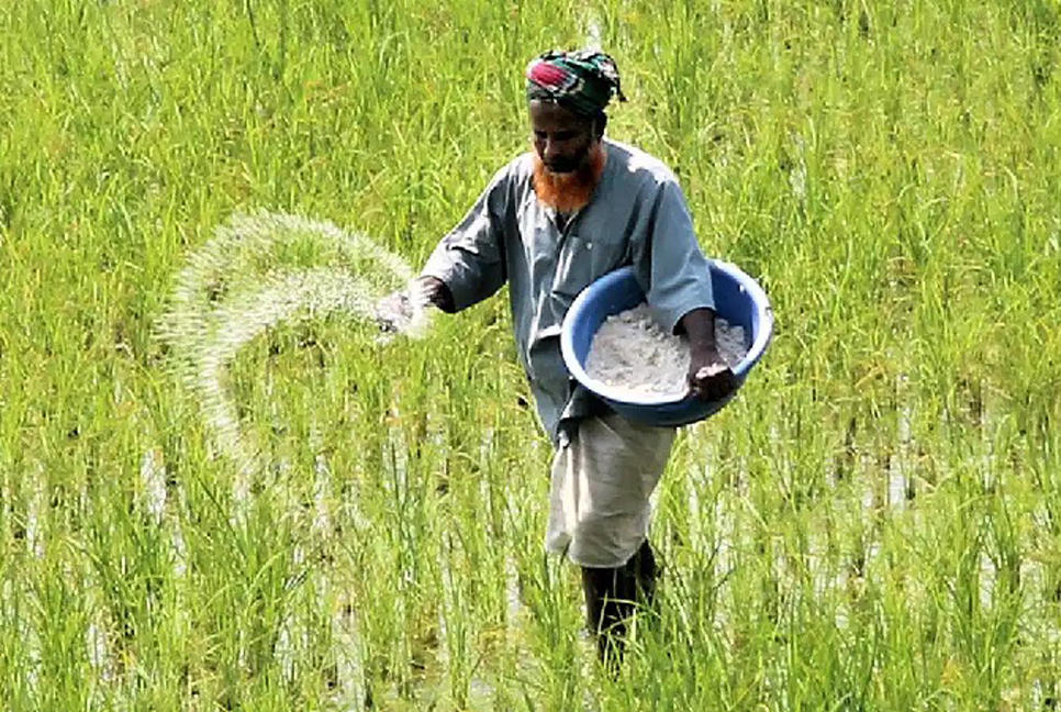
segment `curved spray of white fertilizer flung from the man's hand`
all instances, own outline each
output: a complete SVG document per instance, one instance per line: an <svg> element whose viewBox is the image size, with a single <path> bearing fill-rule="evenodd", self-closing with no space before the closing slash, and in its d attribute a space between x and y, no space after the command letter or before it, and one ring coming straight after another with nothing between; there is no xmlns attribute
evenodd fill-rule
<svg viewBox="0 0 1061 712"><path fill-rule="evenodd" d="M343 260L284 265L279 255L290 245L331 251ZM238 352L282 322L332 313L375 322L382 343L398 334L423 336L428 314L411 286L414 275L404 259L366 235L286 213L234 215L189 256L158 333L172 347L175 374L199 400L206 430L238 466L237 502L264 468L228 389L228 366ZM402 286L407 294L394 291Z"/></svg>

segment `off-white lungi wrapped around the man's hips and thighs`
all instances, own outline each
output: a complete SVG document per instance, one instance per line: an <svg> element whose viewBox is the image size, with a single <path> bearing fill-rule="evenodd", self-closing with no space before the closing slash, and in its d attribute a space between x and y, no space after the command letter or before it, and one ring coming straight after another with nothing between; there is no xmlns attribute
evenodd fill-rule
<svg viewBox="0 0 1061 712"><path fill-rule="evenodd" d="M580 421L552 458L546 549L590 568L626 564L648 536L649 497L675 433L617 413Z"/></svg>

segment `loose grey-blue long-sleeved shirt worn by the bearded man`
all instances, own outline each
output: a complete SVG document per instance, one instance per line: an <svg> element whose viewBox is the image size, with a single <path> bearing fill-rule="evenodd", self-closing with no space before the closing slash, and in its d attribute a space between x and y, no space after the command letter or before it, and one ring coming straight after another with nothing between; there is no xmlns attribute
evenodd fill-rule
<svg viewBox="0 0 1061 712"><path fill-rule="evenodd" d="M668 332L693 309L714 308L707 262L674 175L632 146L605 140L604 148L607 162L592 200L567 220L538 201L533 154L515 158L423 270L446 282L458 310L509 282L516 352L554 442L568 424L600 411L560 356L560 325L582 289L633 265Z"/></svg>

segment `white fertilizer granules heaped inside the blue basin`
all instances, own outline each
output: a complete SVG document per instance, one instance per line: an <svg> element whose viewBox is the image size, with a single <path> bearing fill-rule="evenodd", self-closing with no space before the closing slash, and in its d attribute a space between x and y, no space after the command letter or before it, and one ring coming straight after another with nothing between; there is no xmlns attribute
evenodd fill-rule
<svg viewBox="0 0 1061 712"><path fill-rule="evenodd" d="M730 368L748 353L744 327L725 319L715 319L715 343ZM664 333L648 304L638 304L604 320L590 345L585 372L619 394L678 400L689 391L689 340Z"/></svg>

